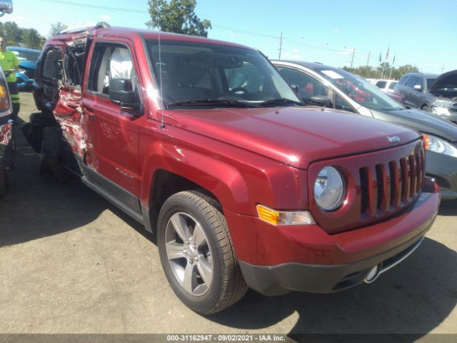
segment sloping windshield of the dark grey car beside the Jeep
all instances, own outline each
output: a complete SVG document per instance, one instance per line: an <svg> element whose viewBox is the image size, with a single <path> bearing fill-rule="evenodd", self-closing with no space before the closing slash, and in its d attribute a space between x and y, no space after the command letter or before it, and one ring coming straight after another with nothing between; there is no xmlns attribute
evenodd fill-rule
<svg viewBox="0 0 457 343"><path fill-rule="evenodd" d="M360 76L353 75L340 69L320 69L319 74L330 81L336 88L343 91L348 97L368 109L393 111L403 109L395 100L391 99L381 89Z"/></svg>

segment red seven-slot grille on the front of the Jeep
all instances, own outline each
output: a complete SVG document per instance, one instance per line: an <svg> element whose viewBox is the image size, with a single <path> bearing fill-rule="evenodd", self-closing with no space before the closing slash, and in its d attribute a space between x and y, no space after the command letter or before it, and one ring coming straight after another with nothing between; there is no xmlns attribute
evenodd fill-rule
<svg viewBox="0 0 457 343"><path fill-rule="evenodd" d="M399 161L359 169L361 181L361 219L406 207L421 192L424 172L423 150Z"/></svg>

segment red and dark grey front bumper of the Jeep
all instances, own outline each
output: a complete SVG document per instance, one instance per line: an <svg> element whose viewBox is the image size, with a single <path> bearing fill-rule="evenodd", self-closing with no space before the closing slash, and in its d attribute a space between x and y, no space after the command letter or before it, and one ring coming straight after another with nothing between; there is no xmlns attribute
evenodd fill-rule
<svg viewBox="0 0 457 343"><path fill-rule="evenodd" d="M338 234L327 234L317 225L269 229L255 219L256 227L248 222L234 227L233 212L226 212L226 218L249 287L266 295L327 293L360 284L376 265L390 269L407 257L433 224L439 202L438 190L427 181L421 197L406 211Z"/></svg>

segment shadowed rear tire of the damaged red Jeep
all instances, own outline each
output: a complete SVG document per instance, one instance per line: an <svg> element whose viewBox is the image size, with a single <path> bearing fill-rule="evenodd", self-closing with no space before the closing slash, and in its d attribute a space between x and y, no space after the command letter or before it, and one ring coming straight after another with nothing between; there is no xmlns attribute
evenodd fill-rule
<svg viewBox="0 0 457 343"><path fill-rule="evenodd" d="M62 165L61 132L56 127L43 129L44 151L41 151L40 172L49 167L59 182L68 182L69 177Z"/></svg>

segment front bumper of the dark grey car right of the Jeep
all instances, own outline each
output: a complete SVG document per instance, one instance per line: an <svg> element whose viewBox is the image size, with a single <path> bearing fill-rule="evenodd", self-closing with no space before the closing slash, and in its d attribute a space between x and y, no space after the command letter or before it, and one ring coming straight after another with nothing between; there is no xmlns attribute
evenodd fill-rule
<svg viewBox="0 0 457 343"><path fill-rule="evenodd" d="M426 150L426 174L436 179L443 200L457 199L457 158Z"/></svg>

